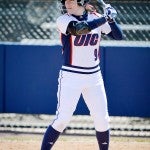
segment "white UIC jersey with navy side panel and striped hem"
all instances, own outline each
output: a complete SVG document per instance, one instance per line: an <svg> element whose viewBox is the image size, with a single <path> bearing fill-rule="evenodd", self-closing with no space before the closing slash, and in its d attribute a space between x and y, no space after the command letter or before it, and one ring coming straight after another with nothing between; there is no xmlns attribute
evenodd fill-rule
<svg viewBox="0 0 150 150"><path fill-rule="evenodd" d="M98 13L88 13L86 21L101 17ZM101 33L108 34L111 28L108 23L92 30L86 35L66 34L68 24L71 21L79 21L74 16L64 14L57 19L57 27L61 32L64 63L62 70L82 74L95 73L99 67L99 46Z"/></svg>

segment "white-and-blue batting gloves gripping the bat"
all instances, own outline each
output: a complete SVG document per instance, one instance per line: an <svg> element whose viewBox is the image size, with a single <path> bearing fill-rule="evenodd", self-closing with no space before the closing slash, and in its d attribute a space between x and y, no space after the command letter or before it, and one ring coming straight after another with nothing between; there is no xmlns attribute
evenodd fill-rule
<svg viewBox="0 0 150 150"><path fill-rule="evenodd" d="M110 4L107 4L104 8L104 16L108 21L113 20L117 17L117 11Z"/></svg>

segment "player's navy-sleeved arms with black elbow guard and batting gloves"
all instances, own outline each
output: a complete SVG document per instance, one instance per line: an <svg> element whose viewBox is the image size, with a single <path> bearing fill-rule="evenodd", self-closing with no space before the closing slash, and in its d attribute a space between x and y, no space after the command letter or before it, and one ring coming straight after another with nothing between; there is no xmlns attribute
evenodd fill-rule
<svg viewBox="0 0 150 150"><path fill-rule="evenodd" d="M111 32L107 34L109 37L115 40L122 40L122 30L118 24L114 21L114 15L116 16L116 10L114 8L106 8L105 16L92 21L71 21L67 27L67 33L72 35L82 35L91 32L91 30L105 24L107 21L110 25Z"/></svg>

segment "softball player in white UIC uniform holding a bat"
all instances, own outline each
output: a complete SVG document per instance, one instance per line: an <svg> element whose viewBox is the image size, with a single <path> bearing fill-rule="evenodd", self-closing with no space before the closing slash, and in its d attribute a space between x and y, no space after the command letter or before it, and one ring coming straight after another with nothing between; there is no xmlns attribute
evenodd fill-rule
<svg viewBox="0 0 150 150"><path fill-rule="evenodd" d="M99 44L102 34L121 40L122 31L108 5L98 14L89 0L60 0L66 13L57 19L61 33L63 65L59 73L56 118L47 128L41 150L50 150L76 109L80 95L94 120L100 150L109 147L109 115L100 71Z"/></svg>

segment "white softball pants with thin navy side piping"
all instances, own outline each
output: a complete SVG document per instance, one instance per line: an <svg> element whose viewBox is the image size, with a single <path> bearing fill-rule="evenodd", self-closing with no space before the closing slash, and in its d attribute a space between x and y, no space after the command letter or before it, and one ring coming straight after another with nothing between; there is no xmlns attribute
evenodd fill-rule
<svg viewBox="0 0 150 150"><path fill-rule="evenodd" d="M94 120L95 130L103 132L109 129L107 99L101 72L77 74L60 70L57 92L56 118L52 127L63 132L76 109L80 95Z"/></svg>

